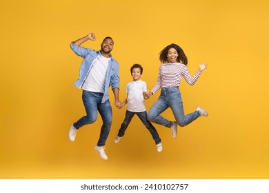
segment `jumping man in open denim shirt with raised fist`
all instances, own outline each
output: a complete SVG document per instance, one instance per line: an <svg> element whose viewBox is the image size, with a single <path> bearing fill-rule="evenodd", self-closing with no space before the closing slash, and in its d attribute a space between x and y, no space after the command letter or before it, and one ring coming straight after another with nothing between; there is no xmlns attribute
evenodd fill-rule
<svg viewBox="0 0 269 193"><path fill-rule="evenodd" d="M108 88L111 85L114 94L114 103L120 108L119 101L119 63L112 58L110 52L113 49L114 41L111 37L106 37L101 43L101 50L94 51L83 48L80 45L88 40L95 41L93 33L82 37L70 44L70 48L83 61L79 70L79 79L74 82L77 88L82 88L82 99L86 109L86 116L79 121L72 123L68 136L70 141L74 141L77 130L83 125L94 123L97 120L97 111L102 117L103 125L99 136L99 141L94 147L102 159L107 160L108 156L103 148L108 138L112 124L112 108L108 99Z"/></svg>

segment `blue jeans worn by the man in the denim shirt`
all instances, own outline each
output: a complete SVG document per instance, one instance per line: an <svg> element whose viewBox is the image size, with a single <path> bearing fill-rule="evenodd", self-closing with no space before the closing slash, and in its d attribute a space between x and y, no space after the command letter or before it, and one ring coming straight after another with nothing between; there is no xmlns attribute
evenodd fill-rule
<svg viewBox="0 0 269 193"><path fill-rule="evenodd" d="M105 103L101 103L102 98L103 93L83 90L82 100L87 115L74 123L74 128L77 129L81 128L83 125L94 123L97 120L98 111L103 120L99 141L97 143L98 146L105 145L112 124L112 108L110 101L107 100Z"/></svg>

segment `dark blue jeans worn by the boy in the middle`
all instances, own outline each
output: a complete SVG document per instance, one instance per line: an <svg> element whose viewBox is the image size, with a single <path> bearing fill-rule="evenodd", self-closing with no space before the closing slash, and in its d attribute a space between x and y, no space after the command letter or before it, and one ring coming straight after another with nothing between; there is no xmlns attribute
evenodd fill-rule
<svg viewBox="0 0 269 193"><path fill-rule="evenodd" d="M148 129L148 131L152 135L152 138L154 139L155 144L157 145L157 144L161 143L161 139L159 137L159 134L158 134L157 130L152 125L152 123L150 123L150 121L148 121L148 119L147 119L146 110L143 111L143 112L130 112L130 111L126 110L125 119L124 119L123 123L121 124L121 128L119 129L118 136L123 136L124 135L126 129L128 128L129 123L132 121L132 117L134 117L135 114L137 114L139 119L146 126L146 128Z"/></svg>

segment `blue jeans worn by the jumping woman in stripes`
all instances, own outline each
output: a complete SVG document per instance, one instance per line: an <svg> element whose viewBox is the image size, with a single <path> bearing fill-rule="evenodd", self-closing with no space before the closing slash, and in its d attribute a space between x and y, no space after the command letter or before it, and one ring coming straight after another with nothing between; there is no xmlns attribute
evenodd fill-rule
<svg viewBox="0 0 269 193"><path fill-rule="evenodd" d="M170 128L172 126L172 122L160 115L167 108L172 110L177 124L181 127L195 121L195 119L200 116L197 111L186 115L184 114L181 93L177 86L161 89L159 99L157 99L148 112L148 121Z"/></svg>

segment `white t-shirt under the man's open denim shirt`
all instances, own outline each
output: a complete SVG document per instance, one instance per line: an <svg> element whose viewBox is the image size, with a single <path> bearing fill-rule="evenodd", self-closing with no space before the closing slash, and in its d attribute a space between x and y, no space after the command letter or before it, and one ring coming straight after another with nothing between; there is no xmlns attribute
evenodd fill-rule
<svg viewBox="0 0 269 193"><path fill-rule="evenodd" d="M82 89L92 92L105 92L106 82L106 71L108 70L108 61L110 58L103 57L99 54L90 67L90 72L85 82L83 83Z"/></svg>

